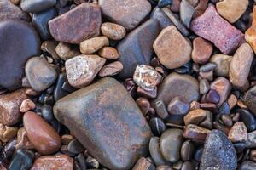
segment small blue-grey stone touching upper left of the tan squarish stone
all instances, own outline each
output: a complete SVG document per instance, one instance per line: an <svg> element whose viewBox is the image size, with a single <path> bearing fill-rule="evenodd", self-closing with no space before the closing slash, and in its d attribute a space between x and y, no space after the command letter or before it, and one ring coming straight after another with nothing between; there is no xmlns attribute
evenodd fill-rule
<svg viewBox="0 0 256 170"><path fill-rule="evenodd" d="M172 25L172 20L170 20L163 10L158 7L153 9L150 14L150 18L158 20L162 29Z"/></svg>

